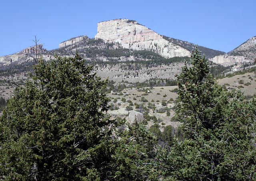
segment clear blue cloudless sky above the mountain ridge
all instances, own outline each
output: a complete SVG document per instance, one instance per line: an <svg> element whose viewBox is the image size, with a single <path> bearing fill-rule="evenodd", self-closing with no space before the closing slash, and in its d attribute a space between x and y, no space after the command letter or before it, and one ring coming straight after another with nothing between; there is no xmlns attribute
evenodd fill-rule
<svg viewBox="0 0 256 181"><path fill-rule="evenodd" d="M98 22L119 18L224 52L256 36L256 0L0 0L0 17L0 56L33 46L33 35L47 50L94 38Z"/></svg>

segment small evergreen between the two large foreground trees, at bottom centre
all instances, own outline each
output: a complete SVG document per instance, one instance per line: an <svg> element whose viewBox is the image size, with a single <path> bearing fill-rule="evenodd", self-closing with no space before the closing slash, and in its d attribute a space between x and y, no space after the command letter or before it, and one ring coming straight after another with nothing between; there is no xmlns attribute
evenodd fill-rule
<svg viewBox="0 0 256 181"><path fill-rule="evenodd" d="M142 124L128 124L127 127L120 133L120 141L115 148L113 159L116 163L111 166L116 172L110 180L157 180L160 173L154 170L156 138Z"/></svg>

